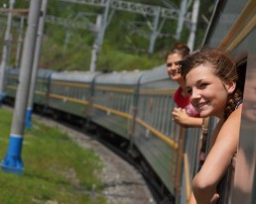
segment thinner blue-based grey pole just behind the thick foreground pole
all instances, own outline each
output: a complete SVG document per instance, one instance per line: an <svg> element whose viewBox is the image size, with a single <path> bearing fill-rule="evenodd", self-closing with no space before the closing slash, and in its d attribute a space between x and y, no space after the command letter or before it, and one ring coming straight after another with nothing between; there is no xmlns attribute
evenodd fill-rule
<svg viewBox="0 0 256 204"><path fill-rule="evenodd" d="M30 91L29 91L29 102L28 102L27 114L26 114L26 124L25 125L27 128L32 128L31 114L33 111L34 92L35 92L35 88L36 88L40 51L41 51L42 40L43 40L43 35L44 35L47 4L48 4L48 0L42 0L42 6L41 6L42 16L40 17L39 26L38 26L38 35L37 35L37 40L36 40L35 56L34 56L34 60L33 60L31 85L30 85Z"/></svg>

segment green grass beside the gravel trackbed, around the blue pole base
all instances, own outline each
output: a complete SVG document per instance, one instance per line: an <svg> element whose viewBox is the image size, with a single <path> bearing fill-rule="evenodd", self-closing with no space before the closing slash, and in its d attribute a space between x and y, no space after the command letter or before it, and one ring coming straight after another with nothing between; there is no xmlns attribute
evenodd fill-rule
<svg viewBox="0 0 256 204"><path fill-rule="evenodd" d="M0 156L7 153L12 112L0 109ZM0 203L106 203L103 197L88 196L101 191L98 174L102 164L92 151L80 148L57 128L33 121L24 134L24 173L0 170Z"/></svg>

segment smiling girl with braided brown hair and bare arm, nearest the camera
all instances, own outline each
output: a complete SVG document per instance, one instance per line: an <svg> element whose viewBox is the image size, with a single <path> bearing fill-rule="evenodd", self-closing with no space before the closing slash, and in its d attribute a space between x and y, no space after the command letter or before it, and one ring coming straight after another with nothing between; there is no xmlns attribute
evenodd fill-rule
<svg viewBox="0 0 256 204"><path fill-rule="evenodd" d="M195 51L181 61L182 75L191 103L202 118L215 116L209 153L192 179L190 204L215 203L217 185L237 151L242 94L236 86L236 66L218 50Z"/></svg>

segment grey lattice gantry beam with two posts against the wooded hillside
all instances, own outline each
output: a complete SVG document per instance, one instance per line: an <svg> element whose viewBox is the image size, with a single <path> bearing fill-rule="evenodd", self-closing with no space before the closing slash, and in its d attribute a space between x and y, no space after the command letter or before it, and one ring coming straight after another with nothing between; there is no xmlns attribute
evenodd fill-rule
<svg viewBox="0 0 256 204"><path fill-rule="evenodd" d="M104 11L104 17L102 20L102 26L100 27L99 32L97 33L96 40L94 41L92 52L91 52L91 62L90 62L90 71L95 71L96 67L96 61L97 61L97 55L100 51L100 47L103 41L104 33L107 26L107 21L109 21L110 18L108 18L108 10L118 10L118 11L126 11L131 12L135 14L142 14L144 16L153 16L154 22L153 26L150 24L151 29L151 38L150 38L150 46L148 49L148 52L151 54L154 52L154 47L156 40L159 36L159 33L161 31L160 26L158 28L159 20L160 18L171 19L171 20L177 20L179 18L180 11L174 8L163 8L158 6L151 6L147 4L141 4L141 3L134 3L129 1L122 1L122 0L61 0L63 2L67 3L77 3L81 5L88 5L88 6L97 6L102 7L105 9ZM181 17L181 15L180 15ZM183 21L190 22L191 20L186 17L186 15L183 15ZM164 22L164 21L163 21ZM183 26L183 24L181 24Z"/></svg>

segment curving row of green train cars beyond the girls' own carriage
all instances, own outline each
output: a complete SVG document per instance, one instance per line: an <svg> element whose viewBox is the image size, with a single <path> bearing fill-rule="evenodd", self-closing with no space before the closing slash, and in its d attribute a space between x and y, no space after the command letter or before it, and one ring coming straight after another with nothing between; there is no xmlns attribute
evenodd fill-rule
<svg viewBox="0 0 256 204"><path fill-rule="evenodd" d="M6 101L16 96L19 71L18 68L8 70ZM40 69L34 109L52 110L54 117L78 120L85 128L93 123L100 132L108 130L123 138L129 153L134 155L139 151L151 166L152 176L155 174L155 179L151 179L159 191L163 195L170 193L173 198L181 186L180 177L184 176L178 173L183 172L184 153L189 155L191 175L197 168L194 153L200 132L199 129L185 132L172 122L176 88L166 65L148 71L113 73ZM186 142L190 146L183 145L185 134L190 135ZM104 133L101 135L104 137ZM184 152L181 152L182 145Z"/></svg>

